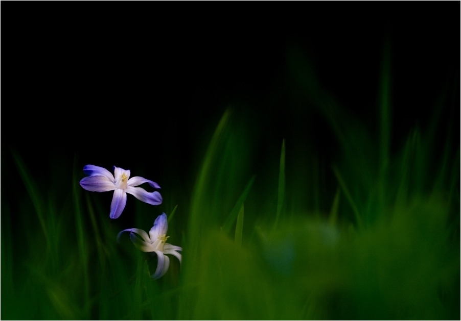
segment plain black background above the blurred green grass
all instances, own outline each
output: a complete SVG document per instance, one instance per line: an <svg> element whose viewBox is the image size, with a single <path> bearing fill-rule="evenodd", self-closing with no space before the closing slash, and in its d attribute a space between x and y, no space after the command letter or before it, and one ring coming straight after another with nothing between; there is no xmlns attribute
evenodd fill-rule
<svg viewBox="0 0 461 321"><path fill-rule="evenodd" d="M44 188L59 179L50 177L56 168L74 160L77 167L127 169L141 162L164 188L172 187L174 172L187 194L229 106L252 126L255 171L267 158L276 161L283 138L302 144L315 137L311 150L334 157L327 121L296 89L288 68L292 48L311 62L320 86L377 134L388 39L391 149L415 126L425 129L444 90L436 139L445 139L451 122L453 149L459 148L459 3L335 4L328 10L266 4L270 15L232 18L224 13L233 6L213 4L217 14L206 20L141 5L122 14L120 5L111 6L74 16L76 8L59 4L61 14L47 18L29 18L38 10L32 5L7 9L2 197L13 208L25 189L11 151ZM185 5L181 12L193 10Z"/></svg>

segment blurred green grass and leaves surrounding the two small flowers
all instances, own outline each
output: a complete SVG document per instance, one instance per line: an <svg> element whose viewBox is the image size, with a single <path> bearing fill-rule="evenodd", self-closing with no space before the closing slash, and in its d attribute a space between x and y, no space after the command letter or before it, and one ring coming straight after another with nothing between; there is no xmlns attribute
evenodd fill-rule
<svg viewBox="0 0 461 321"><path fill-rule="evenodd" d="M162 191L169 241L182 246L183 262L172 258L156 281L149 277L155 258L129 239L117 243L116 235L150 229L160 208L137 202L135 214L123 215L134 215L136 226L122 226L126 221L108 219L100 193L80 188L77 159L53 174L72 173L71 179L44 188L13 153L28 196L14 214L20 233L2 200L2 291L8 295L1 317L458 319L459 146L453 151L447 134L443 154L433 157L434 120L427 133L413 129L399 151L390 152L389 55L374 136L320 88L305 58L291 53L299 90L341 146L335 163L310 159L317 164L309 169L314 177L321 166L335 180L332 198L314 187L310 212L295 205L305 191L290 188L306 178L285 176L293 170L285 155L285 145L294 148L290 141L283 140L278 170L262 173L275 183L261 187L262 175L255 177L249 165L251 128L227 110L197 170L190 208L174 207L175 200L188 204L189 195ZM435 119L437 113L439 107ZM56 189L67 195L58 197Z"/></svg>

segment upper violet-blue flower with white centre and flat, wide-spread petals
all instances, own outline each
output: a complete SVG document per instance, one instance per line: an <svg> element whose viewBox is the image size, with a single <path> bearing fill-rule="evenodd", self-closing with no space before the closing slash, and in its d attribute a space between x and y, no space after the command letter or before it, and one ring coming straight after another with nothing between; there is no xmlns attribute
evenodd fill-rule
<svg viewBox="0 0 461 321"><path fill-rule="evenodd" d="M113 166L114 176L105 168L86 165L83 172L89 177L80 181L80 186L92 192L107 192L113 190L112 203L110 204L110 218L117 218L122 214L126 205L126 193L134 195L136 199L151 205L162 204L162 195L159 192L147 192L144 188L135 187L148 183L154 188L160 188L157 183L135 176L130 178L130 171Z"/></svg>

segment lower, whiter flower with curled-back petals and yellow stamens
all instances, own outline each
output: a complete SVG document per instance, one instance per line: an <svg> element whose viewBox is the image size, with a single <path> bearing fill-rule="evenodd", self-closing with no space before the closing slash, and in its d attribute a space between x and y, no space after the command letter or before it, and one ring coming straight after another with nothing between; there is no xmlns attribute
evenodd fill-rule
<svg viewBox="0 0 461 321"><path fill-rule="evenodd" d="M140 229L126 229L119 232L117 235L117 241L119 241L120 235L122 235L123 232L130 232L130 239L137 249L143 252L155 252L157 254L157 269L151 276L152 279L159 279L167 273L168 267L170 266L170 258L165 254L174 255L178 258L179 263L181 263L181 254L176 251L182 251L182 248L166 243L167 238L169 238L169 236L167 236L167 230L167 215L163 213L155 219L154 226L150 229L149 235ZM141 235L143 239L140 239L134 235L134 233Z"/></svg>

